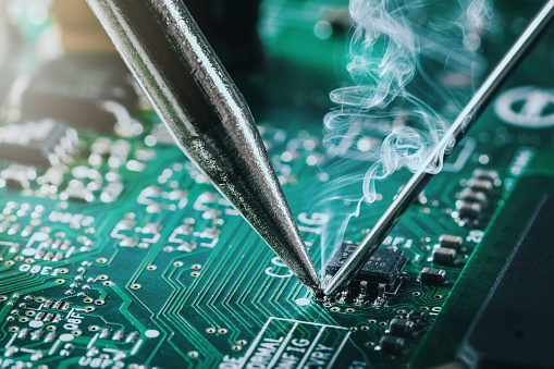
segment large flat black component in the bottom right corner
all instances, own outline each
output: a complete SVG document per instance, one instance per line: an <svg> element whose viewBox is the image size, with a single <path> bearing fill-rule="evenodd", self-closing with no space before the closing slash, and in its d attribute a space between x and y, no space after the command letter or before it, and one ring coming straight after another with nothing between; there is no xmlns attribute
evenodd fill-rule
<svg viewBox="0 0 554 369"><path fill-rule="evenodd" d="M501 271L458 357L471 368L552 368L554 195L542 201Z"/></svg>

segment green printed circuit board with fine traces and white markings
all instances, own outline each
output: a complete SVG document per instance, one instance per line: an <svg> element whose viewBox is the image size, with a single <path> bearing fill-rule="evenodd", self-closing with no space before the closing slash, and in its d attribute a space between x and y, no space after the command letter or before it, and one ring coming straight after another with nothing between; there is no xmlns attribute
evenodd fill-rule
<svg viewBox="0 0 554 369"><path fill-rule="evenodd" d="M494 10L502 19L494 32L504 37L483 45L487 71L539 9L514 3ZM21 9L12 12L28 45L51 27L26 24L22 14L29 13ZM359 182L369 168L338 149L364 152L372 138L324 139L322 120L334 107L329 93L347 78L350 35L333 23L344 16L343 0L262 1L266 60L256 71L233 73L321 275L341 247L337 237L359 243L410 175L401 170L378 182L378 200L362 204L346 229L344 214L358 204L347 196L324 201L337 172ZM30 50L3 61L13 81L40 71L38 59L22 62L21 56L36 57ZM401 255L392 287L361 298L311 296L172 144L144 97L134 107L95 101L116 116L108 130L47 114L17 120L4 109L0 368L426 368L454 361L534 205L552 190L552 58L541 44L510 78L383 242L381 249ZM70 63L81 67L78 59ZM533 108L531 100L544 106ZM506 110L524 114L526 103L526 119L535 123L509 122ZM41 158L40 134L26 145L3 138L34 132L56 138L53 157ZM470 190L487 194L481 206L466 201ZM514 229L505 232L506 224ZM501 237L505 248L487 257ZM422 275L426 269L431 274ZM489 275L471 280L485 269Z"/></svg>

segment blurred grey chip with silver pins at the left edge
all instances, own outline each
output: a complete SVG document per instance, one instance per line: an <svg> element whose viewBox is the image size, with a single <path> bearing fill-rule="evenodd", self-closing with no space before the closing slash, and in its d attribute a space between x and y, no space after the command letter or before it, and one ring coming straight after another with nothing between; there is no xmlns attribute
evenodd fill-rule
<svg viewBox="0 0 554 369"><path fill-rule="evenodd" d="M30 165L59 165L77 143L77 133L53 120L0 127L0 159Z"/></svg>

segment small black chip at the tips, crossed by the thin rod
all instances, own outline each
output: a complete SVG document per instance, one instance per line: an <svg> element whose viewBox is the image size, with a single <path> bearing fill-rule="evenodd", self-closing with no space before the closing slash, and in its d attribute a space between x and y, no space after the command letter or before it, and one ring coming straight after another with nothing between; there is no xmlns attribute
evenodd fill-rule
<svg viewBox="0 0 554 369"><path fill-rule="evenodd" d="M327 265L325 274L328 278L334 275L348 256L354 253L357 245L344 243L333 254ZM348 288L360 292L367 287L368 293L377 292L380 284L390 292L395 288L401 276L402 269L406 263L406 257L403 251L387 248L379 248L366 262L364 268L356 274L349 283Z"/></svg>

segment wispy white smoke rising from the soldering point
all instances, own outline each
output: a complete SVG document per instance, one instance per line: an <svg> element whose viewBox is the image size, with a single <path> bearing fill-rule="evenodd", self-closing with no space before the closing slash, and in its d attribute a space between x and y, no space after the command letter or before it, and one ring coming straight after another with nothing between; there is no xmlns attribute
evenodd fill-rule
<svg viewBox="0 0 554 369"><path fill-rule="evenodd" d="M470 98L487 66L479 48L492 7L490 0L350 0L349 12L352 83L330 94L337 104L324 119L322 170L330 181L312 201L332 216L322 249L342 241L364 204L380 198L377 181L421 167ZM442 162L427 168L441 169Z"/></svg>

